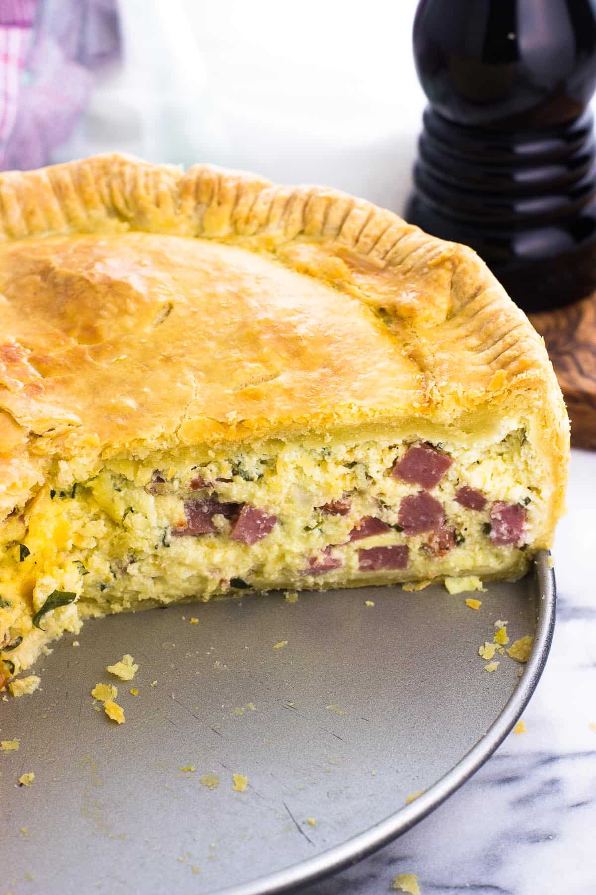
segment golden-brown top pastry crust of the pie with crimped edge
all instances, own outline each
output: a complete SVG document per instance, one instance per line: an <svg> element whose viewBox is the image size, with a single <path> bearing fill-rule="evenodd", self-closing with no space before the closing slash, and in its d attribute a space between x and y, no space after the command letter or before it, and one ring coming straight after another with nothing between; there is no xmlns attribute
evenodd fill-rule
<svg viewBox="0 0 596 895"><path fill-rule="evenodd" d="M384 423L533 421L560 515L541 338L465 246L319 187L120 155L0 175L0 518L63 458Z"/></svg>

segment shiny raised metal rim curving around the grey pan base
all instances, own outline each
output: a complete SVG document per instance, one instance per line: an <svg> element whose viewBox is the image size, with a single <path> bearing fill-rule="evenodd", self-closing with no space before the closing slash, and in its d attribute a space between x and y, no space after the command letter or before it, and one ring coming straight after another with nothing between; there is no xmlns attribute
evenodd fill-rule
<svg viewBox="0 0 596 895"><path fill-rule="evenodd" d="M423 820L427 814L431 814L466 780L469 780L475 771L482 767L524 712L525 706L541 678L550 652L555 626L557 592L554 571L549 567L549 553L546 550L541 550L536 554L533 574L537 584L538 616L532 654L505 708L464 758L441 780L437 780L431 788L427 789L424 795L416 798L416 801L400 807L395 814L390 814L380 823L375 823L374 826L352 839L328 849L317 857L300 861L298 864L261 877L254 882L219 889L217 890L219 895L273 895L276 892L292 891L306 883L322 880L348 865L356 864L363 857L397 839L402 833Z"/></svg>

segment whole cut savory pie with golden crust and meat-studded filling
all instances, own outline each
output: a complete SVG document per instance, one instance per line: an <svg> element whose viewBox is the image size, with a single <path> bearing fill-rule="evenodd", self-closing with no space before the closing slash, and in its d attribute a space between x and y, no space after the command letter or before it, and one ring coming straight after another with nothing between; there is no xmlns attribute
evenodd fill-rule
<svg viewBox="0 0 596 895"><path fill-rule="evenodd" d="M0 231L3 680L89 616L550 546L567 414L470 249L116 155L1 175Z"/></svg>

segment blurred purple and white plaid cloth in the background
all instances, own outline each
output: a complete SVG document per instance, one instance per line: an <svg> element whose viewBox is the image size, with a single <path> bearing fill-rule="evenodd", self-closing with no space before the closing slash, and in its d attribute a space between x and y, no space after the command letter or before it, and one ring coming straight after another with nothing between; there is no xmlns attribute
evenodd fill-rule
<svg viewBox="0 0 596 895"><path fill-rule="evenodd" d="M120 51L117 0L0 0L0 169L45 165Z"/></svg>

